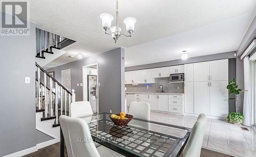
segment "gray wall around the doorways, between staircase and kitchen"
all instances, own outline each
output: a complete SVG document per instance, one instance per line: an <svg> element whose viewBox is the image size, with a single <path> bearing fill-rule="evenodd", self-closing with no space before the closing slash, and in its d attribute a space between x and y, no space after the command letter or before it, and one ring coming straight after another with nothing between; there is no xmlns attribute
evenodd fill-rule
<svg viewBox="0 0 256 157"><path fill-rule="evenodd" d="M76 101L82 101L82 66L98 62L99 73L99 112L110 111L118 113L124 106L124 50L110 50L88 58L56 66L48 69L54 71L55 79L61 82L61 71L71 70L71 89L75 89Z"/></svg>

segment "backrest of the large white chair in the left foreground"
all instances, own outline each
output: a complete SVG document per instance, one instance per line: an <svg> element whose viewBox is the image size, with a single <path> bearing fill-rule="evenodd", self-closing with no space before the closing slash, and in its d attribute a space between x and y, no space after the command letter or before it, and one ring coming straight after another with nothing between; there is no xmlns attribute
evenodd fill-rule
<svg viewBox="0 0 256 157"><path fill-rule="evenodd" d="M86 121L61 115L59 123L65 139L68 156L100 157Z"/></svg>

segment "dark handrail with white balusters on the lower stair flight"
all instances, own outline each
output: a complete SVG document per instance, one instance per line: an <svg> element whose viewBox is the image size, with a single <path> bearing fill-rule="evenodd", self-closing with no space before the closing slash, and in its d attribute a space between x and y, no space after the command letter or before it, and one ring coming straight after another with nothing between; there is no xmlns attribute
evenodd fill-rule
<svg viewBox="0 0 256 157"><path fill-rule="evenodd" d="M41 118L41 121L55 119L53 126L58 126L58 117L60 115L70 116L70 104L75 102L75 90L72 89L72 92L70 92L42 69L40 65L37 63L35 65L36 112L44 112L44 117Z"/></svg>

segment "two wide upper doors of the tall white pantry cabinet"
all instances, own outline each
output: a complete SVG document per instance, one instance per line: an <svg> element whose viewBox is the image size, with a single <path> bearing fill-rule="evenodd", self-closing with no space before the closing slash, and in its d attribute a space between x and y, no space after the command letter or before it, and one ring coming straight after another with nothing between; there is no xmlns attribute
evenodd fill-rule
<svg viewBox="0 0 256 157"><path fill-rule="evenodd" d="M228 59L194 63L194 81L225 80L228 80Z"/></svg>

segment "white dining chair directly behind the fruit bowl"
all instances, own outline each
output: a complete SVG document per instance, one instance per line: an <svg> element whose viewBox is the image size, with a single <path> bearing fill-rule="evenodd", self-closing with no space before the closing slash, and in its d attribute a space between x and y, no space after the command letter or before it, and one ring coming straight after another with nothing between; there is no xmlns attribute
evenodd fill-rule
<svg viewBox="0 0 256 157"><path fill-rule="evenodd" d="M129 106L129 115L133 115L134 118L150 121L150 104L147 102L131 102ZM129 122L129 125L143 128L146 130L151 129L151 124L144 121L133 119Z"/></svg>

